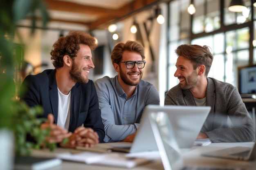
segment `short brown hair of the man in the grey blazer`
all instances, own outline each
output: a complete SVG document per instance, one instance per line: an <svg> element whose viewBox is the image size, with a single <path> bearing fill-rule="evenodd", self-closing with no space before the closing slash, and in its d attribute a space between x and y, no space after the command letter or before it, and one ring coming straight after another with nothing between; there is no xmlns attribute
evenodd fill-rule
<svg viewBox="0 0 256 170"><path fill-rule="evenodd" d="M200 46L182 44L178 46L178 48L175 50L175 53L178 56L181 55L186 59L191 60L194 70L201 64L204 64L205 76L207 76L213 62L213 55L211 54L209 48L210 47L206 45Z"/></svg>

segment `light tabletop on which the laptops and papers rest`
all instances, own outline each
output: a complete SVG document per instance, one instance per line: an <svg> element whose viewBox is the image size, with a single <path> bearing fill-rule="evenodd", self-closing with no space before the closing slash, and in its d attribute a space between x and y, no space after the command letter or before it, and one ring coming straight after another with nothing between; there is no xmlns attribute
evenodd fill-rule
<svg viewBox="0 0 256 170"><path fill-rule="evenodd" d="M223 148L229 148L234 146L245 146L252 147L253 142L241 142L241 143L212 143L208 146L193 146L190 150L183 152L182 157L186 166L225 166L225 167L241 167L247 168L246 170L255 170L256 160L254 161L237 161L231 159L221 159L213 157L202 157L201 153L209 152L211 150L218 150ZM104 144L100 144L104 145ZM32 156L40 157L55 157L58 153L63 152L81 152L73 149L56 148L54 152L49 152L49 150L34 150ZM61 166L51 168L49 170L129 170L127 168L119 168L112 166L97 166L97 165L87 165L85 163L63 161ZM142 166L137 166L131 170L164 170L161 159L155 159L150 163L146 163Z"/></svg>

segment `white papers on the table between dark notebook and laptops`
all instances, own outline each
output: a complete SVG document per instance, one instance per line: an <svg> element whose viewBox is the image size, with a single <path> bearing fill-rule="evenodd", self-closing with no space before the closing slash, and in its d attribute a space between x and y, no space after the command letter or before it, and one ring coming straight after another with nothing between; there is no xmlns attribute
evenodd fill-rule
<svg viewBox="0 0 256 170"><path fill-rule="evenodd" d="M135 166L147 163L150 159L126 157L124 153L110 152L80 152L76 154L61 153L57 158L69 161L79 161L86 164L97 164L107 166L119 166L125 168L134 168Z"/></svg>

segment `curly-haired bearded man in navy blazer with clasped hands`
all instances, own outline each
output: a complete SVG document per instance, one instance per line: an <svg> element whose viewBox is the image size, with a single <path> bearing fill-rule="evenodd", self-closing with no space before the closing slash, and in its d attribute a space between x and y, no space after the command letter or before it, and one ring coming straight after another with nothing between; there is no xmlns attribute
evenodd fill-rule
<svg viewBox="0 0 256 170"><path fill-rule="evenodd" d="M95 38L83 31L70 31L53 47L55 69L27 76L21 99L31 107L43 107L43 117L48 120L41 128L51 128L46 138L49 142L61 143L68 137L68 144L61 146L91 147L105 136L96 89L88 79L94 68L91 50L97 47Z"/></svg>

